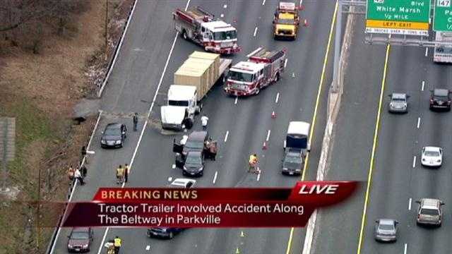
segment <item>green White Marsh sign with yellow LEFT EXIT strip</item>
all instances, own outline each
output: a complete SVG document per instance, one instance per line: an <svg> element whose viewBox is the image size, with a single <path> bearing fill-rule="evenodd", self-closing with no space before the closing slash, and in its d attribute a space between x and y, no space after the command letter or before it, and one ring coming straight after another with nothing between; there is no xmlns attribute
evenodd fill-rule
<svg viewBox="0 0 452 254"><path fill-rule="evenodd" d="M429 35L430 0L367 0L366 32Z"/></svg>

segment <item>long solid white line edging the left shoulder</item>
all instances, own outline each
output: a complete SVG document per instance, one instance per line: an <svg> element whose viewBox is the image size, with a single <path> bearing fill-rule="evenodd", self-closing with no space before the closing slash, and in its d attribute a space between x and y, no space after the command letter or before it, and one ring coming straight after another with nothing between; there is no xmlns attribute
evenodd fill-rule
<svg viewBox="0 0 452 254"><path fill-rule="evenodd" d="M191 0L186 1L185 11L187 10L187 8L189 8L190 1ZM177 37L178 36L179 36L179 32L176 32L176 35L174 35L174 40L172 41L171 49L169 49L169 54L168 54L168 57L167 57L167 61L165 62L165 66L163 66L163 71L162 71L162 75L160 76L160 80L159 80L158 85L157 85L157 90L155 90L155 94L154 94L154 97L153 97L153 102L150 104L150 107L149 107L148 117L146 117L146 121L144 122L143 129L141 129L140 138L138 138L138 143L136 144L135 150L133 151L131 162L129 163L129 170L130 170L129 174L131 174L133 161L135 160L136 153L138 152L138 147L140 147L141 140L143 139L145 128L148 125L148 121L150 119L150 113L153 111L153 107L154 107L154 104L155 104L155 99L157 99L158 90L160 90L160 86L162 85L163 78L165 77L165 73L167 72L169 59L171 58L172 51L174 50L174 46L176 46L176 41L177 41ZM124 188L125 184L126 183L122 183L121 188ZM105 244L105 238L107 237L109 229L110 229L109 226L107 226L107 229L105 229L105 233L104 233L104 236L102 237L102 242L100 243L99 250L97 251L97 254L100 254L102 252L102 248L104 247L104 244Z"/></svg>

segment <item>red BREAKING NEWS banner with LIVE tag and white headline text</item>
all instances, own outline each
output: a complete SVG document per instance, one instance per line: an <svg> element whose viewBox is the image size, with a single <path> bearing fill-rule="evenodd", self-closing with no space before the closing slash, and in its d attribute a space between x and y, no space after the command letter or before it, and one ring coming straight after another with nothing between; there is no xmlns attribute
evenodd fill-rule
<svg viewBox="0 0 452 254"><path fill-rule="evenodd" d="M294 188L100 188L69 204L63 226L302 227L316 208L350 197L355 181Z"/></svg>

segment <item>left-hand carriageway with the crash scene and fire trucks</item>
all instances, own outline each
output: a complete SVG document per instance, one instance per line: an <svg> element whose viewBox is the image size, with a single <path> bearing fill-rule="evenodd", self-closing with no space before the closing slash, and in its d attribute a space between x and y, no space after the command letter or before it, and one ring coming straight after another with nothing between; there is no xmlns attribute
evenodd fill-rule
<svg viewBox="0 0 452 254"><path fill-rule="evenodd" d="M273 40L271 23L278 1L138 1L121 53L102 96L102 114L89 150L88 182L77 186L71 201L91 200L97 188L118 186L114 179L117 165L131 164L127 187L165 186L168 179L182 176L172 169L173 138L182 133L162 132L158 119L163 95L155 97L150 120L143 129L154 95L165 94L172 84L172 73L195 50L191 42L175 40L171 12L174 8L203 6L216 16L232 23L238 30L242 52L232 56L233 63L263 45L269 49L286 47L289 52L287 70L278 84L261 91L256 97L227 97L218 85L203 100L203 114L209 116L208 131L219 141L220 152L215 162L207 162L197 186L218 187L291 187L299 177L280 174L283 140L289 121L312 122L317 106L316 126L311 145L307 178L316 174L326 116L326 88L331 83L331 64L325 68L325 52L335 11L333 1L304 0L302 18L309 26L299 30L295 42ZM246 16L243 15L246 10ZM321 14L321 15L320 15ZM330 56L331 57L331 56ZM324 71L322 71L324 70ZM321 88L323 76L323 90ZM319 97L318 97L319 95ZM319 101L317 104L316 102ZM270 117L275 111L276 119ZM138 112L139 131L132 131L131 114ZM129 135L124 148L100 149L101 131L112 121L127 124ZM196 122L194 129L200 128ZM143 131L141 131L143 129ZM267 150L262 150L266 141ZM262 174L246 173L248 156L261 157ZM244 237L241 237L241 232ZM66 253L69 229L61 229L53 253ZM297 229L189 229L171 241L150 239L145 229L95 229L91 252L104 253L101 243L114 236L123 239L126 253L300 253L304 233ZM289 240L291 239L291 240ZM290 248L287 248L290 241ZM289 249L290 251L288 251Z"/></svg>

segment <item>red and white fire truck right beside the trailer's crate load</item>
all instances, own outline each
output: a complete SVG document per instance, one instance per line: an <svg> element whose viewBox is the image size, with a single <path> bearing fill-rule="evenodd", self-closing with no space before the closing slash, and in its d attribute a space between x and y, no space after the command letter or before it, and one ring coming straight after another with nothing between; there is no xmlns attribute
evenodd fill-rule
<svg viewBox="0 0 452 254"><path fill-rule="evenodd" d="M270 51L259 47L230 68L225 78L225 92L229 95L257 95L262 88L280 79L287 65L287 50Z"/></svg>

